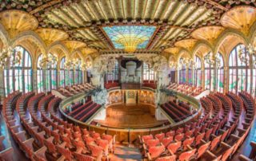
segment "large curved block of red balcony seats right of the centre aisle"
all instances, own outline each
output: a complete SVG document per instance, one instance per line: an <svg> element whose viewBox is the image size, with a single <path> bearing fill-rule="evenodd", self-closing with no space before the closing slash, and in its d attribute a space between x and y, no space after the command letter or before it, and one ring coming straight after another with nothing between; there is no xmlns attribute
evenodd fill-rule
<svg viewBox="0 0 256 161"><path fill-rule="evenodd" d="M199 120L170 132L139 137L145 157L158 161L230 159L246 139L256 107L246 92L238 96L243 102L233 93L226 93L221 99L219 96L222 95L215 93L201 99L204 110ZM236 111L233 113L231 108ZM241 116L242 110L245 116ZM230 113L238 116L229 118Z"/></svg>

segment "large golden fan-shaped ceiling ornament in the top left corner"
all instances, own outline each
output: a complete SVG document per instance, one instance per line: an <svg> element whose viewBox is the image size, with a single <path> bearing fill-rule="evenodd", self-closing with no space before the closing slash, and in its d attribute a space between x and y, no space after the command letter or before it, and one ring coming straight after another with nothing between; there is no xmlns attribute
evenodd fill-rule
<svg viewBox="0 0 256 161"><path fill-rule="evenodd" d="M38 20L22 10L6 10L0 13L0 22L13 38L27 30L38 28Z"/></svg>

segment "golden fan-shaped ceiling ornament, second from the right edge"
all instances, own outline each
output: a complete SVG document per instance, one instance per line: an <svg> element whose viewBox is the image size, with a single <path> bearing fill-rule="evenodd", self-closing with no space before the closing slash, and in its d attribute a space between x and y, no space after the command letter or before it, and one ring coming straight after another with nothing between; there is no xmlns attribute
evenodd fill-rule
<svg viewBox="0 0 256 161"><path fill-rule="evenodd" d="M199 29L195 29L191 36L198 40L204 40L213 44L213 42L217 39L218 35L224 31L224 27L222 26L205 26Z"/></svg>

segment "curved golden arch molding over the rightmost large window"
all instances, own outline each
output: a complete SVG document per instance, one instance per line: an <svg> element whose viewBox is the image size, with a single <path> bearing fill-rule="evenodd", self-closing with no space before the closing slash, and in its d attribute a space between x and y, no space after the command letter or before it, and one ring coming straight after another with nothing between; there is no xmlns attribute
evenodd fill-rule
<svg viewBox="0 0 256 161"><path fill-rule="evenodd" d="M250 43L248 37L246 37L243 33L238 31L237 29L226 29L218 36L217 40L215 41L214 53L218 53L219 48L221 47L222 43L226 41L226 38L228 36L241 38L242 41L244 41L245 45L248 45Z"/></svg>

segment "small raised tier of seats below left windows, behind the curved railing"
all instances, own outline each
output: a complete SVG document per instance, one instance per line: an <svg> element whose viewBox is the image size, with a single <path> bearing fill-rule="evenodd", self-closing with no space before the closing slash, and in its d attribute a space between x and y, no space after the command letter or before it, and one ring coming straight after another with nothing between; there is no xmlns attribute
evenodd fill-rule
<svg viewBox="0 0 256 161"><path fill-rule="evenodd" d="M91 84L75 84L72 86L66 86L65 88L58 88L58 92L60 92L63 96L74 96L80 92L88 92L93 90L95 87Z"/></svg>

